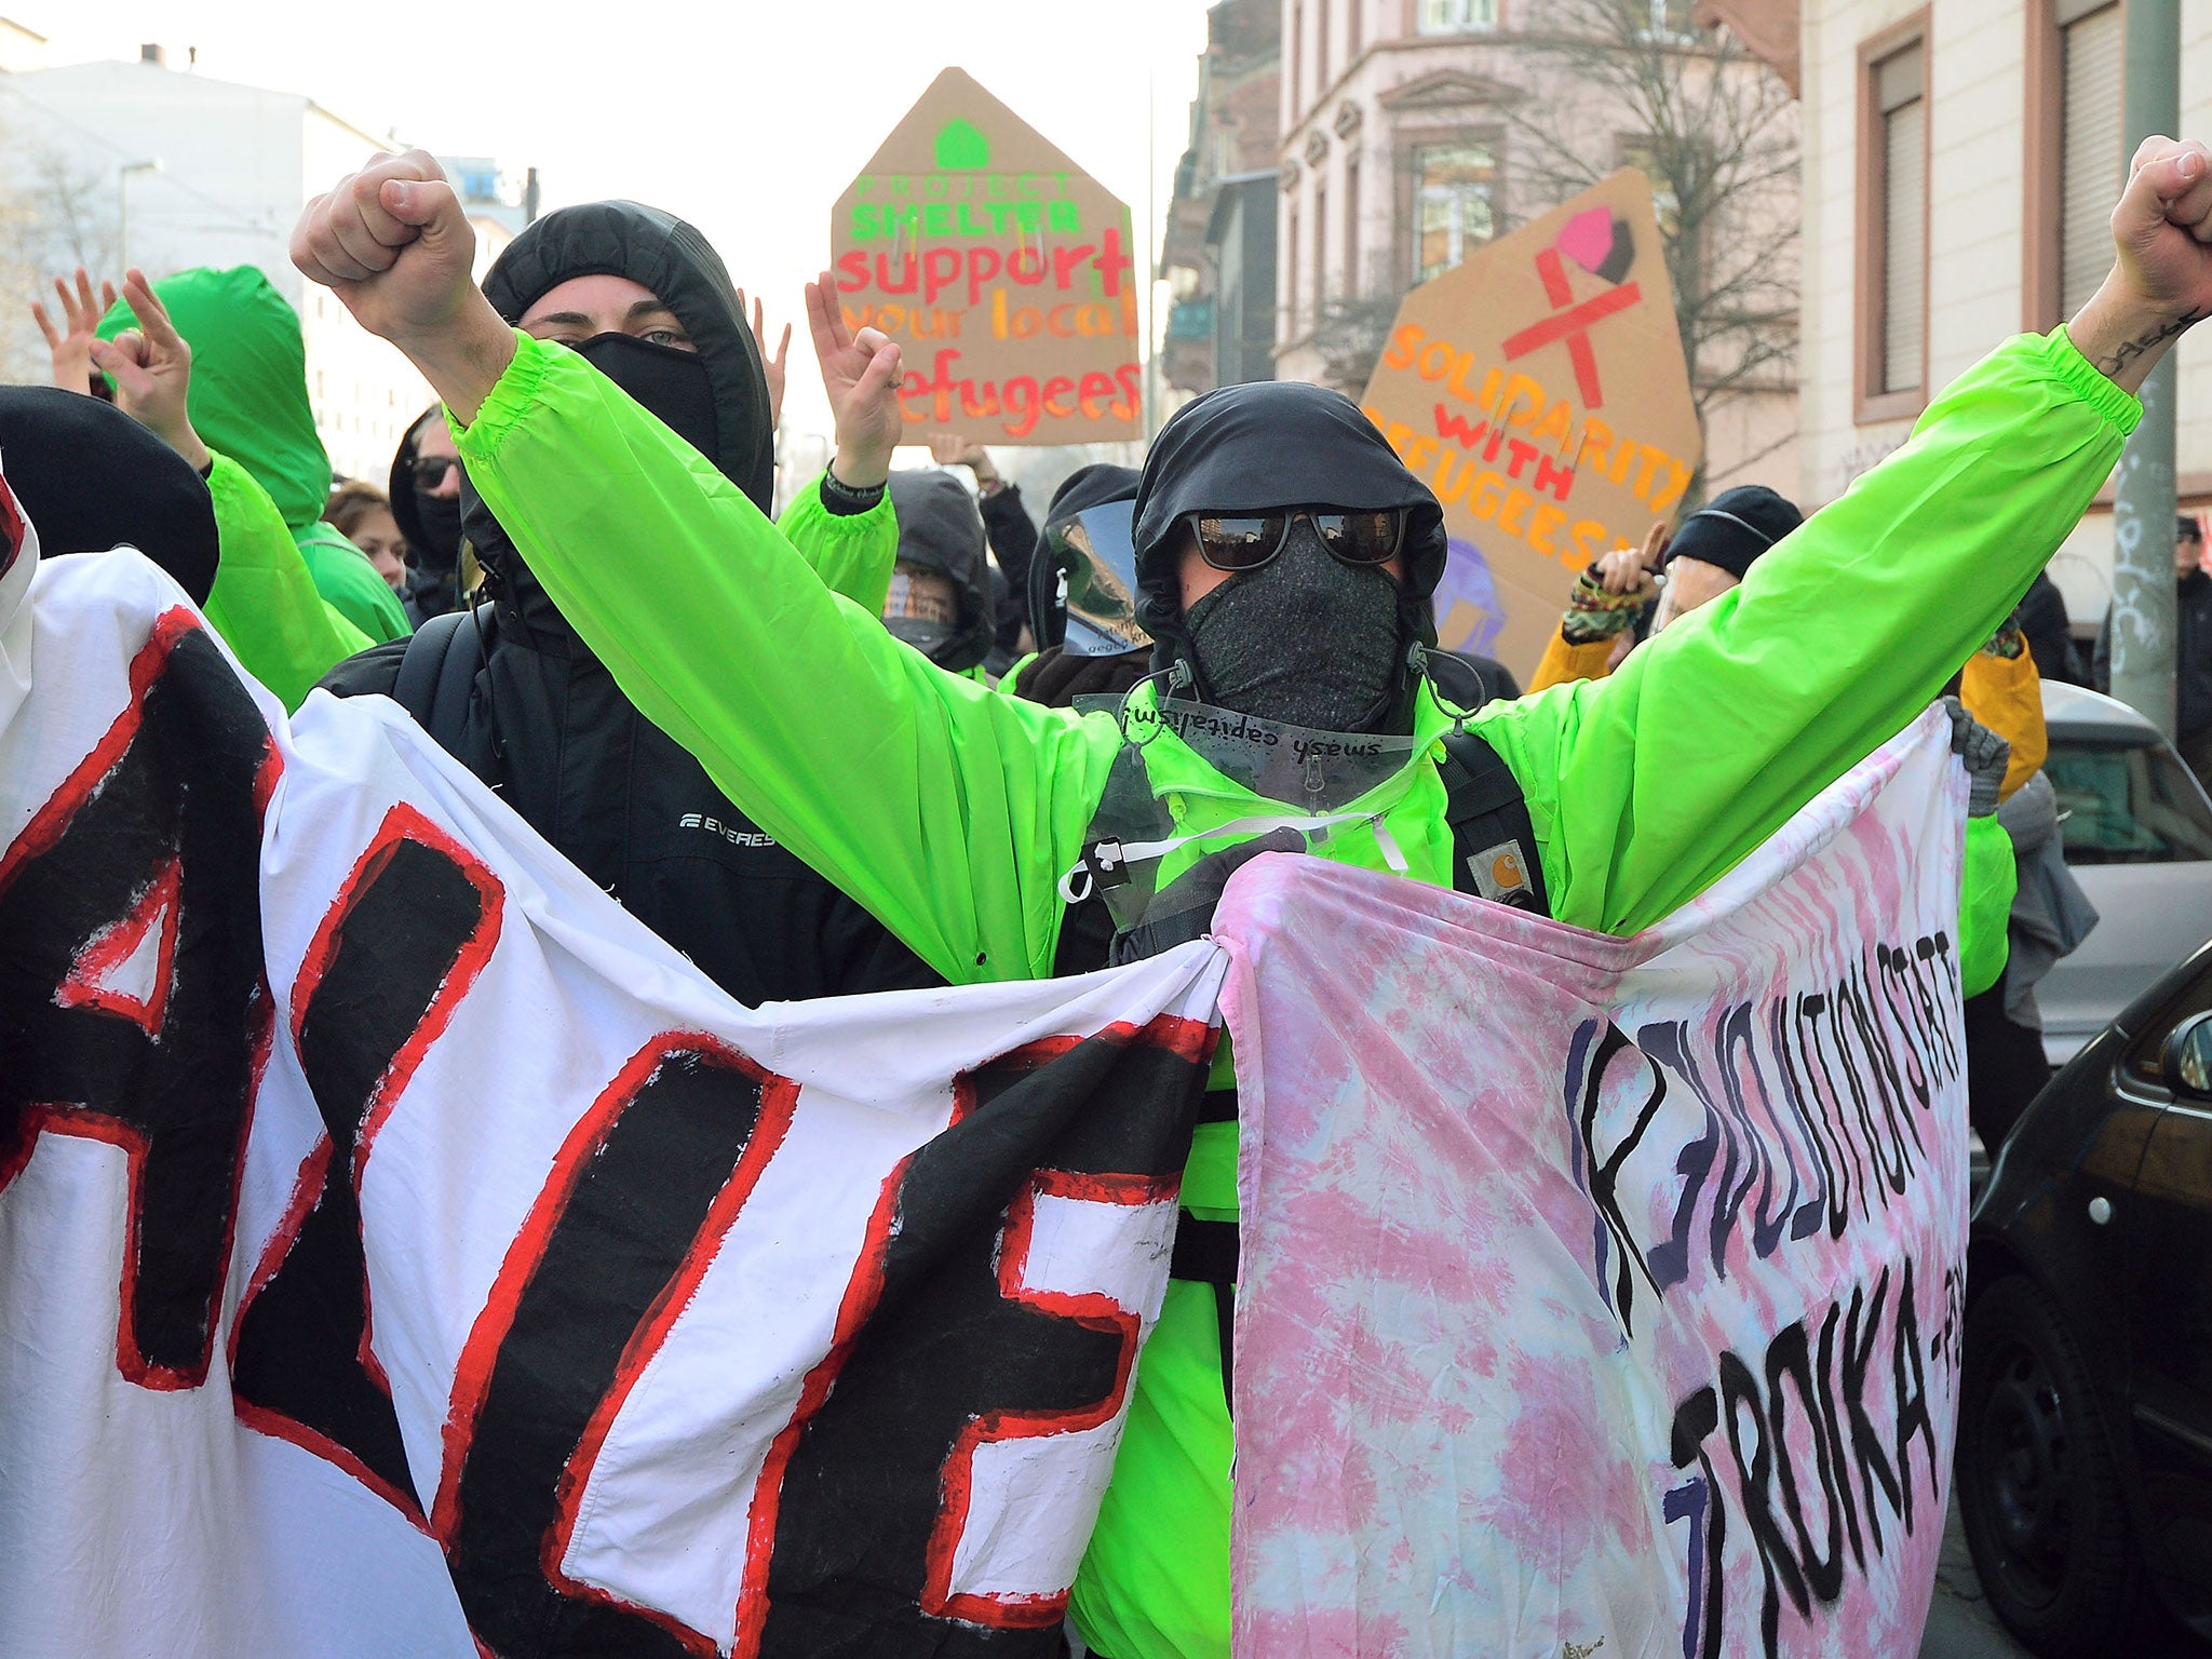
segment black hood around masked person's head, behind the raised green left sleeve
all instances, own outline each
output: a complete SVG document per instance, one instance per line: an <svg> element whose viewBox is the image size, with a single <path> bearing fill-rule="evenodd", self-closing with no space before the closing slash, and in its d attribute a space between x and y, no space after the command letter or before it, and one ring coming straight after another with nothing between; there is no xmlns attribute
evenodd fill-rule
<svg viewBox="0 0 2212 1659"><path fill-rule="evenodd" d="M763 513L774 504L776 431L768 411L761 347L745 325L737 288L721 257L692 226L637 201L593 201L538 219L484 274L484 296L509 323L571 276L628 276L653 290L699 347L714 394L714 447L708 460ZM540 650L591 657L555 611L538 577L484 507L467 469L460 482L460 526L484 566L502 617L520 624Z"/></svg>

